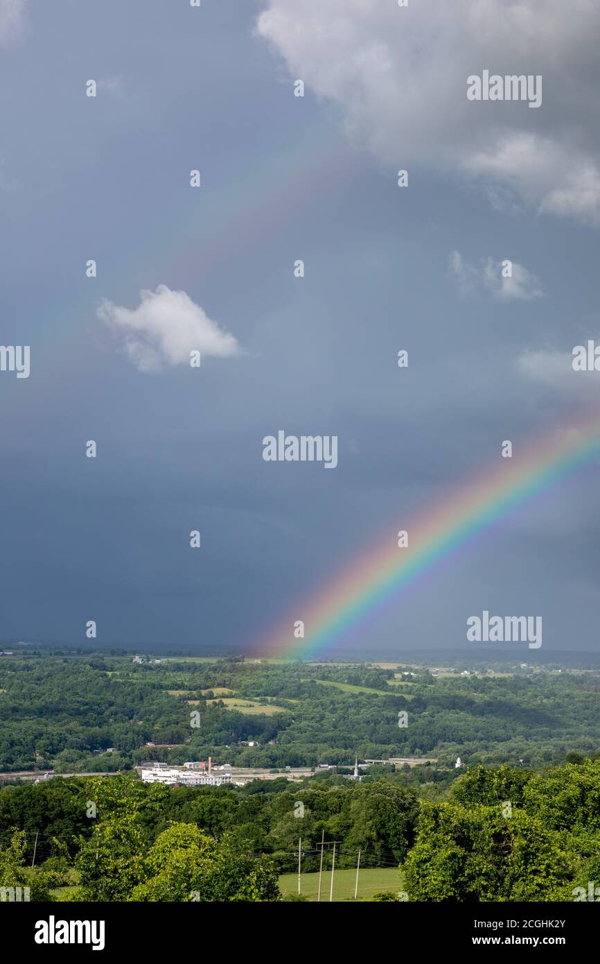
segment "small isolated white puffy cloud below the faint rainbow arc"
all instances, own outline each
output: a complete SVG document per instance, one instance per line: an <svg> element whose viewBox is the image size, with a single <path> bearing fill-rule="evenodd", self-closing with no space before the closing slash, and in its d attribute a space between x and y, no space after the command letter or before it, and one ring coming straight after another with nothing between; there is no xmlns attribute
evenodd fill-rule
<svg viewBox="0 0 600 964"><path fill-rule="evenodd" d="M189 364L190 352L206 357L230 358L240 354L233 335L222 331L185 291L159 284L142 291L138 308L120 308L103 301L98 318L110 325L140 371L160 371L165 364Z"/></svg>

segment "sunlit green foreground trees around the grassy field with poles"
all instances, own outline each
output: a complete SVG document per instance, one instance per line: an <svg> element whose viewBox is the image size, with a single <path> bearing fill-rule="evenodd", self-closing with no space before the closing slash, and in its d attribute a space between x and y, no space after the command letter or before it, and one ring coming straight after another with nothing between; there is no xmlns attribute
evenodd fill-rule
<svg viewBox="0 0 600 964"><path fill-rule="evenodd" d="M298 802L303 809L299 817ZM478 766L437 800L339 775L167 788L125 774L0 790L0 886L32 900L271 901L278 875L398 867L372 899L588 899L600 879L600 762L536 772ZM363 865L364 866L364 865ZM584 895L584 896L582 896Z"/></svg>

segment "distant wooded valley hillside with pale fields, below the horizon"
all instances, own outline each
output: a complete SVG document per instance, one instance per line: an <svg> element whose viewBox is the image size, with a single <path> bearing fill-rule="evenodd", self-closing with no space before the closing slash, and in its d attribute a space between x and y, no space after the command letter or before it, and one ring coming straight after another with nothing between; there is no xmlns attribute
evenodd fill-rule
<svg viewBox="0 0 600 964"><path fill-rule="evenodd" d="M0 772L117 771L209 754L277 768L427 756L437 763L413 779L447 783L457 756L471 766L542 766L600 747L597 669L453 669L0 657Z"/></svg>

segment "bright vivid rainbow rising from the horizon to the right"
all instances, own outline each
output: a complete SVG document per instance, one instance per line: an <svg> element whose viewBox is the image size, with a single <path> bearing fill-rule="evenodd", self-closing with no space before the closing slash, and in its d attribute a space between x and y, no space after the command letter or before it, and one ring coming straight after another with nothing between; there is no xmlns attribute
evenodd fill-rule
<svg viewBox="0 0 600 964"><path fill-rule="evenodd" d="M541 495L598 456L600 413L595 412L576 427L528 446L526 455L499 457L493 469L463 484L412 522L395 521L382 542L362 553L314 596L296 605L288 618L257 644L257 655L330 655L383 603L429 574L512 509ZM408 533L405 549L398 547L400 530ZM294 637L297 620L304 623L303 639Z"/></svg>

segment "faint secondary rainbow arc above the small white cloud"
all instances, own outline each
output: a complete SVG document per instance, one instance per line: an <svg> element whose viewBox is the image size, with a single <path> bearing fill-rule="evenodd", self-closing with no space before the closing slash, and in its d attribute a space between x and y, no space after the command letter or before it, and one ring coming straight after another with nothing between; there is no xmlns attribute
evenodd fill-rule
<svg viewBox="0 0 600 964"><path fill-rule="evenodd" d="M39 344L48 361L57 355L65 367L72 365L72 356L81 348L77 338L67 335L79 332L82 321L96 323L102 298L135 308L140 289L164 283L184 287L202 305L203 286L215 272L228 272L229 277L237 260L256 254L257 239L271 238L276 243L282 228L298 212L310 210L332 185L339 188L341 179L358 170L359 155L350 152L330 125L312 121L290 125L285 140L274 145L266 158L257 147L245 164L240 170L239 159L232 158L218 182L211 182L202 170L197 194L187 188L186 170L181 174L186 188L173 199L169 220L161 214L153 222L148 215L135 252L124 259L115 252L112 263L107 259L97 287L82 272L73 302L48 308L51 324L39 330ZM282 256L290 275L297 256L302 254ZM226 319L217 320L229 327ZM63 336L57 338L57 334Z"/></svg>

